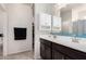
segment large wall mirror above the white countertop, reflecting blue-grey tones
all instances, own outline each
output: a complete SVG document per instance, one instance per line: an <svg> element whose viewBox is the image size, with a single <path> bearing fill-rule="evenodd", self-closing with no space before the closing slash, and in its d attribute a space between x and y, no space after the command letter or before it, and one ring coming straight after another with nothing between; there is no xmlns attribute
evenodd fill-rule
<svg viewBox="0 0 86 64"><path fill-rule="evenodd" d="M75 4L67 4L65 8L62 8L60 10L61 29L60 29L60 34L57 35L86 38L86 28L85 28L86 8L85 7L86 4L75 3ZM52 24L56 24L56 22L58 21L54 21Z"/></svg>

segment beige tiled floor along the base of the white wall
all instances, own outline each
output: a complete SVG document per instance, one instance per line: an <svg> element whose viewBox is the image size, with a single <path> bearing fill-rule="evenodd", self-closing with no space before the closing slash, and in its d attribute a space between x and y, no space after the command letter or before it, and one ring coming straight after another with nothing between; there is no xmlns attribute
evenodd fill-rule
<svg viewBox="0 0 86 64"><path fill-rule="evenodd" d="M5 57L0 56L0 60L34 60L34 52L21 52Z"/></svg>

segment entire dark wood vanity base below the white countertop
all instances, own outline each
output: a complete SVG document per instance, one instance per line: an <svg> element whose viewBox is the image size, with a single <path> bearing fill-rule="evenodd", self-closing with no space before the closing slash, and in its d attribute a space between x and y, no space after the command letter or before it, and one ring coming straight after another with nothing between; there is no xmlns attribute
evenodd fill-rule
<svg viewBox="0 0 86 64"><path fill-rule="evenodd" d="M86 53L40 38L40 56L44 60L86 60Z"/></svg>

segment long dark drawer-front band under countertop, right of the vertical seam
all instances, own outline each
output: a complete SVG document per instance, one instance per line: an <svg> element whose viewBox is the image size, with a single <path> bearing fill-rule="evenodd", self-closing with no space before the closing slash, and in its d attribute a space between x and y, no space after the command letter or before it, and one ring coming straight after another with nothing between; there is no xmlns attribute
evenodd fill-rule
<svg viewBox="0 0 86 64"><path fill-rule="evenodd" d="M86 53L65 47L65 46L61 46L58 43L52 43L52 49L63 53L64 55L71 57L72 60L86 60Z"/></svg>

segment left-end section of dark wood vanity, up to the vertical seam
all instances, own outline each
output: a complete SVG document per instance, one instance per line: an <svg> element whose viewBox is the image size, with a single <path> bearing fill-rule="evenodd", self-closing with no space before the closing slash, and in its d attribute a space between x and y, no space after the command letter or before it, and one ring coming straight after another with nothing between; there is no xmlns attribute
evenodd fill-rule
<svg viewBox="0 0 86 64"><path fill-rule="evenodd" d="M40 39L40 55L44 60L51 60L51 42Z"/></svg>

